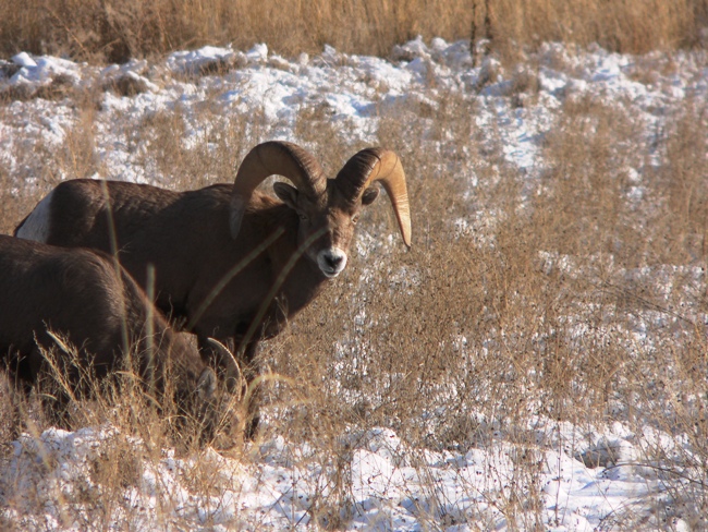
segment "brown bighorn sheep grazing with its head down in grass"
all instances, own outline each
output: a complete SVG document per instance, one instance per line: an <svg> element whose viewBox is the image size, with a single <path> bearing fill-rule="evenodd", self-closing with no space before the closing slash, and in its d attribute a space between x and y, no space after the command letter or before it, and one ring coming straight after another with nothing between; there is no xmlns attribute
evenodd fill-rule
<svg viewBox="0 0 708 532"><path fill-rule="evenodd" d="M59 348L54 360L81 395L90 387L84 375L105 378L131 349L148 391L164 390L169 366L184 413L200 416L207 431L219 422L213 370L110 256L0 235L0 360L25 391L48 368L42 350Z"/></svg>

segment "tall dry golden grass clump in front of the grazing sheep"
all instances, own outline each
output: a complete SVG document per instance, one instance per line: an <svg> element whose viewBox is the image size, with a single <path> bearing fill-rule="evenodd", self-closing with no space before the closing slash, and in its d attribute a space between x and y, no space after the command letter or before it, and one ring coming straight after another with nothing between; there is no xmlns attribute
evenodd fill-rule
<svg viewBox="0 0 708 532"><path fill-rule="evenodd" d="M160 449L169 444L183 454L194 454L207 437L209 445L223 448L236 443L233 436L240 437L231 421L237 424L243 419L239 416L241 398L227 394L224 386L215 394L205 418L193 404L178 403L185 390L173 386L173 367L164 367L164 388L152 389L139 376L141 362L131 349L109 377L98 379L84 354L61 335L56 338L57 348L42 349L45 364L30 394L24 394L21 387L14 389L9 382L12 373L3 372L2 407L8 412L0 430L3 442L15 439L23 432L37 437L46 426L76 430L110 425L127 430L126 434L141 438L150 448ZM205 432L208 423L209 433Z"/></svg>

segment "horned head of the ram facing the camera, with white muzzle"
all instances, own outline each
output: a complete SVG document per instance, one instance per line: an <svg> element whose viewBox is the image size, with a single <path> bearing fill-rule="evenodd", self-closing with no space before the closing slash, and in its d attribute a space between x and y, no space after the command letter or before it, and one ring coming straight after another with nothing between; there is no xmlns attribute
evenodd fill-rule
<svg viewBox="0 0 708 532"><path fill-rule="evenodd" d="M406 246L411 246L411 211L405 174L399 157L388 149L366 148L354 155L334 179L327 179L315 158L300 146L267 142L244 158L231 197L231 235L235 239L254 190L269 176L279 174L295 184L278 182L278 197L300 217L298 244L326 277L337 277L346 266L354 226L362 206L371 204L380 181L386 189ZM319 237L318 237L319 234Z"/></svg>

